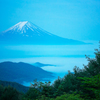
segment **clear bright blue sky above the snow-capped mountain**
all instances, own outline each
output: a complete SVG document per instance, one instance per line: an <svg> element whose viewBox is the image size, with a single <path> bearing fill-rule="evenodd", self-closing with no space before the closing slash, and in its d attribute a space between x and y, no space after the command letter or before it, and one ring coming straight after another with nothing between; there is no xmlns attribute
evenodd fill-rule
<svg viewBox="0 0 100 100"><path fill-rule="evenodd" d="M0 0L0 32L20 21L70 39L100 40L100 0Z"/></svg>

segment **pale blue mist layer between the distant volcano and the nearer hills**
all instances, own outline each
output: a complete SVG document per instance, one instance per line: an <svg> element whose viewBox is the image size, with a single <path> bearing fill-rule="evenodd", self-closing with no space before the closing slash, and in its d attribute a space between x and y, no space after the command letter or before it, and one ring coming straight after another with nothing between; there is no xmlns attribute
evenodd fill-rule
<svg viewBox="0 0 100 100"><path fill-rule="evenodd" d="M94 49L97 44L90 45L19 45L0 47L0 62L25 62L34 65L36 62L52 64L53 66L43 66L42 69L56 73L56 77L49 78L51 82L67 74L68 70L73 72L75 66L83 68L88 61L85 55L94 58ZM28 72L27 72L28 73ZM38 73L38 72L37 72ZM29 86L30 82L23 82Z"/></svg>

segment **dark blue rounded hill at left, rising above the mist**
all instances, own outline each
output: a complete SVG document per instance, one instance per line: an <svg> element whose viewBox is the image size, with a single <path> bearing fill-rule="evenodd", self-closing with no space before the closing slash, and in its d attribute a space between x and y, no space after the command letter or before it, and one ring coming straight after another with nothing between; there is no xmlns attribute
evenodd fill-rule
<svg viewBox="0 0 100 100"><path fill-rule="evenodd" d="M0 63L0 80L17 83L33 82L33 80L42 80L43 78L52 78L53 75L39 67L19 62Z"/></svg>

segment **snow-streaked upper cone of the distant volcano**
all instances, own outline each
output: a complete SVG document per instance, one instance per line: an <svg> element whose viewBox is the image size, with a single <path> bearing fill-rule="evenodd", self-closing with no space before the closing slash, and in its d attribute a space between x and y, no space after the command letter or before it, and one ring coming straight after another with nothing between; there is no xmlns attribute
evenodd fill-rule
<svg viewBox="0 0 100 100"><path fill-rule="evenodd" d="M46 35L52 35L51 33L41 29L40 27L38 27L37 25L28 22L28 21L22 21L17 23L16 25L10 27L9 29L7 29L6 31L4 31L3 33L18 33L18 34L24 34L24 35L38 35L38 36L43 36L44 34Z"/></svg>

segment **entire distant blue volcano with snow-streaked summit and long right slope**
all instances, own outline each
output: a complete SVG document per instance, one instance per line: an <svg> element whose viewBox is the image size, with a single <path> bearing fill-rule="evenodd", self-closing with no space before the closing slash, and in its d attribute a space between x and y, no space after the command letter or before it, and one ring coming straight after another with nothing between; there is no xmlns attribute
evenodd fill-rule
<svg viewBox="0 0 100 100"><path fill-rule="evenodd" d="M23 21L1 32L0 44L66 45L85 43L56 36L31 22Z"/></svg>

